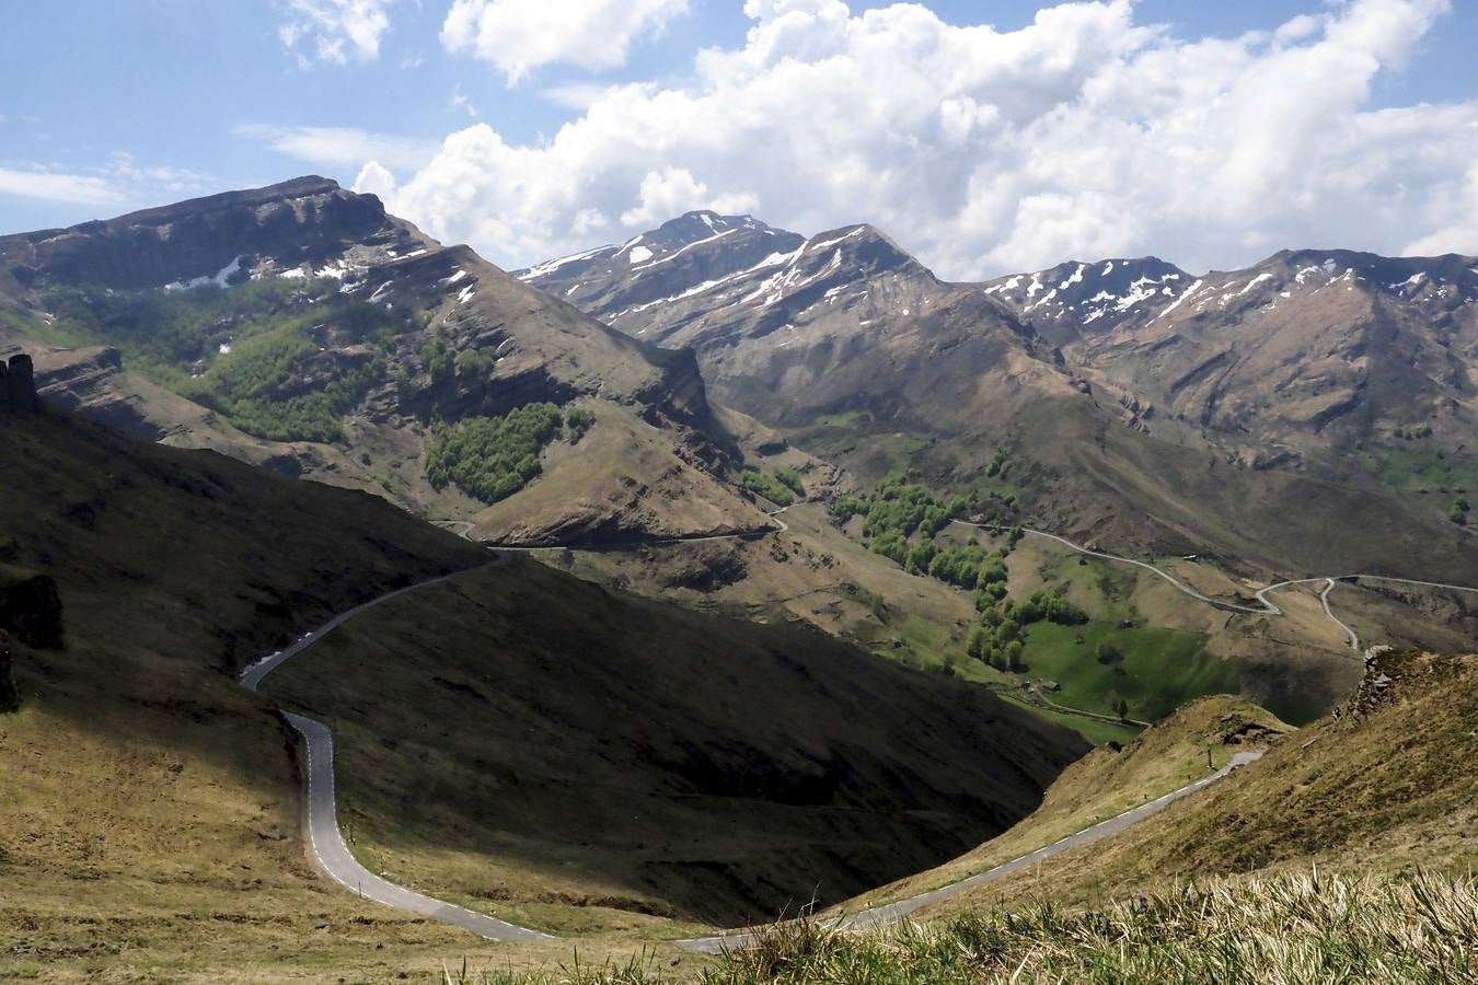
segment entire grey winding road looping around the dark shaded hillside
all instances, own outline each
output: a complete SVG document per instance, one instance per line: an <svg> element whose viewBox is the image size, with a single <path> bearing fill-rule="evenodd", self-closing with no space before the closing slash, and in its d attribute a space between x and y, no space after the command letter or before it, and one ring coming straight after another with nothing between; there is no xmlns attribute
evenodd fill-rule
<svg viewBox="0 0 1478 985"><path fill-rule="evenodd" d="M630 549L630 548L653 546L653 545L661 545L661 543L695 543L695 542L708 542L708 540L754 539L754 538L766 536L769 533L783 533L785 530L788 530L789 527L785 524L783 520L779 518L779 515L783 514L786 509L789 509L789 507L785 507L783 509L776 509L774 512L769 514L770 517L774 518L774 521L777 524L772 530L758 530L758 532L745 532L745 533L727 533L727 535L705 535L705 536L695 536L695 538L668 538L668 539L661 539L661 540L640 540L640 542L633 542L633 543L628 543L628 545L607 543L607 545L599 545L599 546L605 548L605 549L616 549L616 548ZM992 532L999 532L999 530L1005 530L1007 529L1007 527L1001 527L1001 526L965 523L962 520L953 520L952 523L956 523L956 524L961 524L961 526L967 526L967 527L975 527L975 529L980 529L980 530L992 530ZM454 530L455 533L458 533L460 536L463 536L464 539L469 539L469 540L471 540L470 535L471 535L471 530L474 529L471 523L464 521L464 520L436 521L436 526ZM457 527L461 527L461 529L457 530ZM1058 543L1061 543L1064 546L1072 548L1073 551L1077 551L1079 554L1086 554L1089 557L1104 558L1104 560L1108 560L1108 561L1119 561L1119 563L1123 563L1123 564L1132 564L1135 567L1145 569L1145 570L1153 572L1154 574L1163 577L1166 582L1169 582L1171 585L1174 585L1178 591L1184 592L1185 595L1190 595L1191 598L1196 598L1196 600L1199 600L1202 603L1206 603L1208 605L1213 605L1216 608L1230 610L1230 611L1281 616L1283 610L1280 610L1276 604L1273 604L1267 598L1268 594L1280 591L1283 588L1289 588L1292 585L1305 585L1305 583L1314 583L1314 582L1326 582L1324 589L1320 592L1320 601L1324 605L1324 613L1329 616L1329 619L1332 619L1335 623L1338 623L1341 626L1341 629L1344 629L1344 632L1346 634L1346 638L1349 641L1349 645L1352 648L1357 648L1357 650L1358 650L1360 641L1355 636L1355 632L1349 626L1346 626L1344 622L1341 622L1335 616L1335 613L1330 610L1330 605L1329 605L1329 594L1330 594L1330 591L1333 591L1335 583L1338 580L1341 580L1341 579L1361 577L1361 579L1370 579L1370 580L1385 580L1385 582L1394 582L1394 583L1403 583L1403 585L1420 585L1420 586L1428 586L1428 588L1441 588L1441 589L1451 589L1451 591L1460 591L1460 592L1478 592L1478 588L1468 588L1468 586L1463 586L1463 585L1447 585L1447 583L1441 583L1441 582L1419 582L1419 580L1413 580L1413 579L1386 577L1386 576L1379 576L1379 574L1346 574L1346 576L1335 576L1335 577L1327 577L1326 576L1326 577L1311 577L1311 579L1292 579L1292 580L1286 580L1286 582L1278 582L1276 585L1270 585L1268 588L1264 588L1264 589L1261 589L1261 591L1256 592L1258 603L1262 605L1262 608L1252 608L1252 607L1247 607L1247 605L1225 603L1222 600L1216 600L1216 598L1210 598L1208 595L1203 595L1202 592L1197 592L1194 588L1191 588L1190 585L1185 585L1184 582L1181 582L1175 576L1169 574L1168 572L1163 572L1163 570L1160 570L1160 569L1157 569L1153 564L1148 564L1145 561L1138 561L1135 558L1119 557L1119 555L1114 555L1114 554L1106 554L1103 551L1092 551L1089 548L1085 548L1085 546L1080 546L1077 543L1073 543L1072 540L1069 540L1066 538L1057 536L1055 533L1046 533L1043 530L1032 530L1032 529L1023 527L1023 532L1027 533L1027 535L1032 535L1032 536L1039 536L1039 538L1046 538L1049 540L1055 540L1055 542L1058 542ZM495 558L497 560L489 561L489 566L505 563L508 560L510 552L528 552L528 551L537 551L537 549L547 549L547 548L526 548L526 546L492 545L492 543L488 543L486 540L479 540L479 543L483 543L485 546L488 546L488 549L495 551ZM461 572L458 572L458 573L461 573ZM439 576L439 577L427 579L424 582L417 582L415 585L408 585L405 588L398 588L398 589L395 589L392 592L386 592L384 595L372 598L372 600L370 600L370 601L367 601L367 603L364 603L361 605L356 605L356 607L353 607L353 608L350 608L347 611L343 611L343 613L334 616L333 619L330 619L328 622L325 622L318 629L315 629L312 632L303 634L291 645L284 647L282 650L278 650L275 653L270 653L266 657L263 657L262 660L257 660L251 666L245 667L241 672L241 675L239 675L239 684L244 688L247 688L248 691L256 693L257 688L259 688L259 685L262 684L262 681L269 673L272 673L276 667L282 666L284 662L287 662L287 660L290 660L290 659L302 654L304 650L307 650L309 647L312 647L315 642L318 642L319 639L322 639L330 632L333 632L334 629L337 629L338 626L341 626L347 620L353 619L355 616L359 616L361 613L364 613L364 611L367 611L370 608L374 608L375 605L381 605L381 604L384 604L387 601L392 601L392 600L399 598L402 595L406 595L409 592L417 592L417 591L421 591L424 588L432 588L435 585L440 585L440 583L446 582L449 577L452 577L452 574L443 574L443 576ZM300 735L303 735L303 741L304 741L304 747L306 747L306 759L307 759L307 769L306 769L306 774L304 774L306 805L307 805L306 826L307 826L307 833L309 833L309 843L310 843L312 854L313 854L313 862L319 867L319 870L322 870L327 876L330 876L338 885L344 886L344 889L347 889L350 892L355 892L355 893L358 893L359 896L362 896L365 899L372 899L372 901L380 902L380 904L383 904L386 907L395 907L396 910L403 910L403 911L408 911L408 913L418 913L418 914L423 914L423 916L427 916L427 917L432 917L432 919L436 919L436 920L440 920L440 921L445 921L445 923L463 927L463 929L470 930L470 932L473 932L473 933L476 933L476 935L479 935L482 938L486 938L489 941L537 941L537 939L550 939L550 935L542 933L539 930L531 930L528 927L520 927L520 926L507 923L504 920L498 920L497 917L491 917L491 916L482 914L482 913L474 913L474 911L467 910L464 907L458 907L455 904L449 904L449 902L445 902L442 899L436 899L433 896L427 896L427 895L414 892L414 890L406 889L403 886L398 886L398 885L395 885L395 883L392 883L392 882L389 882L389 880L377 876L377 874L371 873L364 865L361 865L359 861L353 857L353 852L349 851L349 846L344 843L343 833L338 828L337 800L336 800L336 793L334 793L334 737L333 737L333 731L327 725L324 725L322 722L315 721L312 718L306 718L303 715L296 715L296 713L284 710L282 712L282 718L288 724L291 724L293 728L297 730L297 732ZM1258 758L1261 758L1261 755L1262 753L1256 753L1256 752L1237 753L1237 755L1233 756L1231 762L1227 766L1224 766L1222 769L1219 769L1219 771L1216 771L1213 774L1209 774L1206 777L1202 777L1200 780L1197 780L1197 781L1194 781L1191 784L1187 784L1187 786L1181 787L1179 790L1174 790L1171 793L1166 793L1165 796L1157 797L1156 800L1151 800L1148 803L1142 803L1142 805L1140 805L1137 808L1131 808L1129 811L1125 811L1123 814L1119 814L1119 815L1116 815L1113 818L1108 818L1106 821L1100 821L1098 824L1095 824L1095 826L1092 826L1089 828L1085 828L1085 830L1077 831L1075 834L1069 834L1067 837L1064 837L1064 839L1061 839L1061 840L1058 840L1058 842L1055 842L1052 845L1046 845L1043 848L1036 849L1035 852L1030 852L1027 855L1021 855L1020 858L1014 858L1014 859L1011 859L1008 862L1002 862L1001 865L996 865L995 868L986 870L983 873L977 873L974 876L970 876L970 877L962 879L959 882L950 883L947 886L941 886L939 889L933 889L930 892L919 893L919 895L910 896L907 899L900 899L897 902L882 904L882 905L878 905L878 907L869 907L866 910L862 910L862 911L857 911L857 913L853 913L853 914L847 914L844 917L837 919L834 921L834 926L840 926L842 929L863 929L863 927L872 927L872 926L878 926L878 924L882 924L882 923L890 923L890 921L902 920L902 919L907 917L909 914L915 913L916 910L919 910L921 907L930 905L933 902L939 902L940 899L952 896L952 895L955 895L955 893L958 893L961 890L965 890L965 889L970 889L970 888L974 888L974 886L981 886L984 883L989 883L992 880L1001 879L1004 876L1009 876L1011 873L1015 873L1015 871L1020 871L1021 868L1026 868L1029 865L1038 864L1038 862L1041 862L1041 861L1043 861L1046 858L1051 858L1052 855L1057 855L1060 852L1064 852L1067 849L1077 848L1077 846L1082 846L1082 845L1091 845L1094 842L1098 842L1098 840L1101 840L1104 837L1108 837L1108 836L1111 836L1111 834L1114 834L1117 831L1122 831L1123 828L1129 827L1131 824L1135 824L1135 823L1142 821L1144 818L1147 818L1147 817L1150 817L1153 814L1157 814L1159 811L1165 809L1168 805L1174 803L1175 800L1178 800L1178 799L1181 799L1184 796L1188 796L1191 793L1196 793L1197 790L1200 790L1200 789L1203 789L1203 787L1206 787L1206 786L1209 786L1209 784L1221 780L1222 777L1228 775L1233 769L1237 769L1239 766L1243 766L1243 765L1246 765L1249 762L1256 761ZM706 936L706 938L690 938L690 939L686 939L686 941L674 941L674 944L677 947L680 947L680 948L687 950L687 951L712 954L712 953L718 953L718 951L721 951L724 948L742 948L742 947L746 947L748 944L751 944L752 941L754 941L754 933L751 930L729 930L729 932L721 932L718 935Z"/></svg>

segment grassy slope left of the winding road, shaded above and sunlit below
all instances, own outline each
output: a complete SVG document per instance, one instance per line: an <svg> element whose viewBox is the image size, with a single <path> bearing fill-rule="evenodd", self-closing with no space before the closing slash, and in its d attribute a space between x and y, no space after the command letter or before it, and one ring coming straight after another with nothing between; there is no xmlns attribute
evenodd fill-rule
<svg viewBox="0 0 1478 985"><path fill-rule="evenodd" d="M309 867L291 738L222 670L480 555L83 421L7 418L0 471L3 560L52 574L67 623L65 650L16 650L25 704L0 716L3 978L393 978L466 948Z"/></svg>

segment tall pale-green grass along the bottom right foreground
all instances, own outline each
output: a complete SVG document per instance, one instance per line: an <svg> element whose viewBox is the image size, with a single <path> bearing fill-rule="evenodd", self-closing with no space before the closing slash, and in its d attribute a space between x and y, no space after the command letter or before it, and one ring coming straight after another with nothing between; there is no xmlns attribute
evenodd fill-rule
<svg viewBox="0 0 1478 985"><path fill-rule="evenodd" d="M684 981L624 969L488 985ZM1431 873L1358 879L1310 871L1138 896L1104 911L1036 904L949 923L847 933L772 926L757 947L695 970L704 985L1178 982L1230 985L1478 981L1478 883Z"/></svg>

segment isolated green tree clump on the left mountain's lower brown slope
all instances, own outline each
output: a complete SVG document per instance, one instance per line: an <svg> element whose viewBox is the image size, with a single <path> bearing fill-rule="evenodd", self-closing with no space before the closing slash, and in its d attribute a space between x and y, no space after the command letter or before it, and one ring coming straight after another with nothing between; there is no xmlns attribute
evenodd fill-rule
<svg viewBox="0 0 1478 985"><path fill-rule="evenodd" d="M584 419L588 412L571 413ZM559 437L565 422L553 403L526 403L497 418L436 424L426 446L426 477L436 489L457 483L474 499L498 502L539 474L539 452ZM588 419L584 427L590 427Z"/></svg>

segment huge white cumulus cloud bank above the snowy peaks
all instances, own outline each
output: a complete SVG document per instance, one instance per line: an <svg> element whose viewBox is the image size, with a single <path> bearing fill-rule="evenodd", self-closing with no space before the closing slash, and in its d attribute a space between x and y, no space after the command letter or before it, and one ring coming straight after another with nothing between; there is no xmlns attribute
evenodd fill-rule
<svg viewBox="0 0 1478 985"><path fill-rule="evenodd" d="M1299 245L1478 253L1478 100L1372 106L1448 1L1307 4L1187 40L1131 0L1015 31L910 3L746 0L743 43L701 52L683 84L585 90L551 140L476 124L399 182L384 159L367 173L430 233L513 266L717 204L803 232L871 222L952 278ZM480 15L516 6L458 0L443 37L480 44ZM489 44L497 61L508 41ZM541 50L504 69L559 58Z"/></svg>

